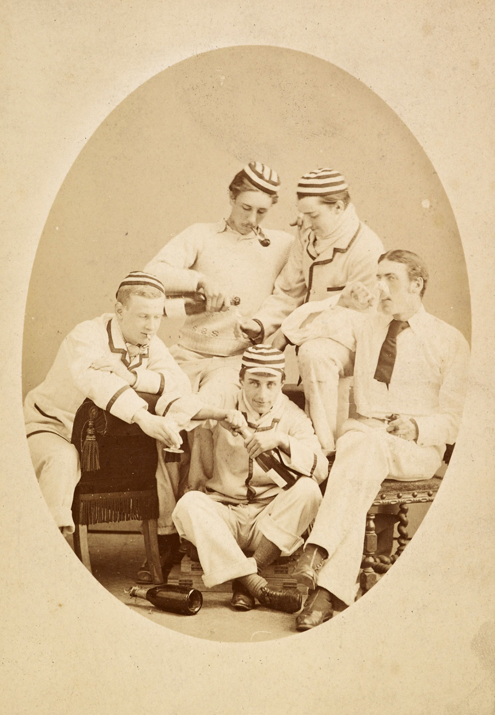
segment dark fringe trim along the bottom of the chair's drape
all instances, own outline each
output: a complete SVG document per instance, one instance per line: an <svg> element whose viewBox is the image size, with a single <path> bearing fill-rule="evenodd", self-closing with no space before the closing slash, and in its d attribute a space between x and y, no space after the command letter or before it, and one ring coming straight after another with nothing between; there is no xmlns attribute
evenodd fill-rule
<svg viewBox="0 0 495 715"><path fill-rule="evenodd" d="M80 494L74 498L72 516L79 524L156 519L158 496L156 491Z"/></svg>

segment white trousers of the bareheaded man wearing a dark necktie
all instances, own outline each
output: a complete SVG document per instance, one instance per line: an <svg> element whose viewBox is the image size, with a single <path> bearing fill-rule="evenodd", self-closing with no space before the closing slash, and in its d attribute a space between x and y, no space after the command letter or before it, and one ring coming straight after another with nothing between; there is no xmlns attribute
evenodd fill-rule
<svg viewBox="0 0 495 715"><path fill-rule="evenodd" d="M366 513L382 481L430 479L441 465L435 447L419 447L389 434L385 427L379 420L347 420L308 539L328 551L318 585L348 605L357 593Z"/></svg>

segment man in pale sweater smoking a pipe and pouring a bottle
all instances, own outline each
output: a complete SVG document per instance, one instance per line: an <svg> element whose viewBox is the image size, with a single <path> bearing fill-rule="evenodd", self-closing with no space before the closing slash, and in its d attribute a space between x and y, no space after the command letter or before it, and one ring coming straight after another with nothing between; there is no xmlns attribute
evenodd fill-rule
<svg viewBox="0 0 495 715"><path fill-rule="evenodd" d="M246 164L228 189L229 217L188 227L144 269L159 276L167 292L205 294L206 312L186 318L178 344L170 349L193 390L214 394L225 380L237 383L242 351L250 340L234 333L237 319L230 298L240 297L237 310L253 315L271 294L294 240L289 233L260 227L278 201L279 186L273 169L260 162Z"/></svg>

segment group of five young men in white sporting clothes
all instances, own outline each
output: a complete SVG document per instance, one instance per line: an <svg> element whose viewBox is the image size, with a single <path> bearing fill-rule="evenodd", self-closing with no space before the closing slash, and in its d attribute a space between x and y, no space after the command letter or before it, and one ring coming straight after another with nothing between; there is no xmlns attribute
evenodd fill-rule
<svg viewBox="0 0 495 715"><path fill-rule="evenodd" d="M469 348L424 310L421 258L383 252L338 172L300 179L294 241L259 227L278 185L264 164L244 167L229 187L227 220L172 239L144 272L122 281L114 314L69 333L27 395L25 419L41 490L69 532L79 480L70 436L84 398L136 422L158 445L178 446L182 429L207 430L212 463L199 488L181 496L159 460L162 533L177 531L196 546L206 586L232 580L233 608L249 610L258 599L295 613L300 594L270 589L259 571L302 546L314 521L295 569L309 587L296 619L303 631L356 597L366 512L382 480L431 478L455 442ZM164 285L200 289L207 302L170 351L156 335ZM230 307L232 295L240 295L242 315ZM309 417L282 393L289 342L298 346ZM358 414L338 437L338 380L350 374ZM155 415L139 391L160 395ZM318 484L333 453L322 501ZM278 469L258 463L267 454Z"/></svg>

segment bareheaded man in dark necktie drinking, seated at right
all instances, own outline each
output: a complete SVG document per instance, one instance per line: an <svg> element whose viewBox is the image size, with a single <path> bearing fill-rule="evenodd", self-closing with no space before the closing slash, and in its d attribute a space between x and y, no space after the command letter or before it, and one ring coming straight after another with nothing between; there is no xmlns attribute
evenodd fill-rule
<svg viewBox="0 0 495 715"><path fill-rule="evenodd" d="M446 443L456 441L466 396L469 347L459 330L422 305L423 260L405 250L378 260L378 312L348 311L358 415L343 425L323 502L294 575L312 589L296 627L320 625L356 598L366 513L383 479L430 479ZM373 302L364 285L340 299ZM308 326L323 337L343 330L335 307ZM288 336L290 337L290 336Z"/></svg>

